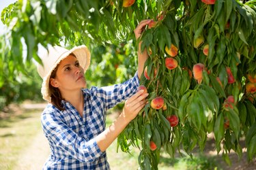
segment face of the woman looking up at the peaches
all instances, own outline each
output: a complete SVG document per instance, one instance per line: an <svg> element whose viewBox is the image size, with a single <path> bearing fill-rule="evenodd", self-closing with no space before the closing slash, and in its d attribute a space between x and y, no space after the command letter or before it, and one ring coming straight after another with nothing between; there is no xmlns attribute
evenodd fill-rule
<svg viewBox="0 0 256 170"><path fill-rule="evenodd" d="M69 55L59 63L56 77L51 78L51 85L62 92L72 92L86 87L83 68L75 56Z"/></svg>

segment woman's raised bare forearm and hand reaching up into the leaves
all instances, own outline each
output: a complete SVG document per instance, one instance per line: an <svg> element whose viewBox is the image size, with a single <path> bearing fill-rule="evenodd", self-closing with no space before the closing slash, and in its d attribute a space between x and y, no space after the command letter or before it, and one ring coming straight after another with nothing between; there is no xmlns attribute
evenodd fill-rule
<svg viewBox="0 0 256 170"><path fill-rule="evenodd" d="M141 37L141 33L144 31L145 26L149 23L150 23L150 20L142 20L141 22L139 22L137 28L134 29L134 34L135 34L136 39L139 39L139 37ZM141 52L141 43L142 43L142 41L139 42L139 47L138 47L138 77L139 77L139 80L141 80L141 74L143 73L144 64L148 58L146 49L143 50L143 52Z"/></svg>

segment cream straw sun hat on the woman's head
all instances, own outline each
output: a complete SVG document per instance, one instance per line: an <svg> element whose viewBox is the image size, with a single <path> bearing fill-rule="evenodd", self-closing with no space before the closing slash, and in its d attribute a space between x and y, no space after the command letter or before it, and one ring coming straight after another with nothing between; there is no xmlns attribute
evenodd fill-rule
<svg viewBox="0 0 256 170"><path fill-rule="evenodd" d="M77 46L71 50L62 48L60 46L51 46L45 54L42 55L43 65L38 65L38 73L43 79L42 82L42 97L44 100L51 102L51 94L49 92L49 80L52 71L59 65L59 63L69 54L73 53L81 67L86 71L89 67L91 54L86 46Z"/></svg>

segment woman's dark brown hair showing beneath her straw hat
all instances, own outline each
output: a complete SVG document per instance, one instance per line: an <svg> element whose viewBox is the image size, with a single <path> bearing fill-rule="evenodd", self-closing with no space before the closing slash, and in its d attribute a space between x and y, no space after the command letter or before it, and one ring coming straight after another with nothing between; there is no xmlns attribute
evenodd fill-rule
<svg viewBox="0 0 256 170"><path fill-rule="evenodd" d="M73 53L70 53L70 55L76 57ZM51 78L56 78L56 73L57 73L57 69L58 69L59 65L57 65L57 67L55 67L55 69L53 69L51 76L50 76L50 80ZM61 97L61 92L59 90L59 88L56 88L54 86L51 85L51 81L49 81L49 90L51 93L51 103L57 107L59 110L65 110L65 108L63 107L61 101L63 100L63 98Z"/></svg>

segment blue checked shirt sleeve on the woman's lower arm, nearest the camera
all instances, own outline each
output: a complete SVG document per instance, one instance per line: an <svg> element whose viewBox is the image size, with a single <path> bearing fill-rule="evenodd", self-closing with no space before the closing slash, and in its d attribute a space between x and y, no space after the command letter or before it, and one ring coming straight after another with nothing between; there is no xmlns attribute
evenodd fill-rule
<svg viewBox="0 0 256 170"><path fill-rule="evenodd" d="M42 114L41 122L53 152L65 152L83 163L93 162L102 155L95 138L86 141L54 114Z"/></svg>

